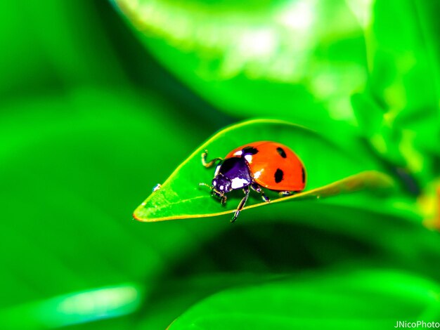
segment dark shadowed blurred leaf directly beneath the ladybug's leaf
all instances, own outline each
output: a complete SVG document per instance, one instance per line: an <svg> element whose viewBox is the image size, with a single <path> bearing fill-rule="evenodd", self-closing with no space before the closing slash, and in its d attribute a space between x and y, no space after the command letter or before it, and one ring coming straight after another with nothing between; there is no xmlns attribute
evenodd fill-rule
<svg viewBox="0 0 440 330"><path fill-rule="evenodd" d="M382 206L380 199L365 194L344 197L350 199L339 196L320 203L309 199L244 212L235 225L205 238L197 251L178 260L155 282L141 309L141 329L163 329L164 319L171 322L188 305L228 287L287 274L326 276L328 268L344 272L348 265L440 281L432 267L440 258L440 237L420 225L420 217L405 211L398 201ZM374 206L353 207L352 199Z"/></svg>

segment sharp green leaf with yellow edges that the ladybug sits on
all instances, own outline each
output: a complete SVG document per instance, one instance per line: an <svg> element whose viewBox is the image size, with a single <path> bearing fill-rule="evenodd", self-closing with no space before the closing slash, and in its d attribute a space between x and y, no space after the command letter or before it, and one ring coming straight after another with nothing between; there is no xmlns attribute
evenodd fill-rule
<svg viewBox="0 0 440 330"><path fill-rule="evenodd" d="M160 190L153 192L134 212L134 218L143 221L171 220L218 216L235 211L238 199L230 198L221 208L206 187L198 183L210 183L213 171L200 163L202 151L207 149L211 157L224 157L238 145L257 140L275 140L294 150L304 162L307 173L306 190L290 197L273 199L271 204L306 197L328 197L361 187L390 187L392 180L384 174L371 172L377 164L368 153L356 150L348 152L323 138L320 134L287 121L255 119L225 128L207 140L164 182ZM365 173L364 171L370 171ZM364 173L361 173L364 172ZM347 178L351 176L350 178ZM270 195L270 197L273 197ZM267 205L261 199L251 198L245 209Z"/></svg>

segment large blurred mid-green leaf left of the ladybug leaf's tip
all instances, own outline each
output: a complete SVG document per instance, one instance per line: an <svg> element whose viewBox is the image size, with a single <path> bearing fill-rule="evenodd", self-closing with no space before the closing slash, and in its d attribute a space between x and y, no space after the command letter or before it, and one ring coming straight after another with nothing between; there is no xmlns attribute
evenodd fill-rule
<svg viewBox="0 0 440 330"><path fill-rule="evenodd" d="M0 312L89 288L143 283L196 246L199 230L208 237L218 230L213 223L145 228L131 220L134 201L212 129L202 125L188 135L191 119L143 94L81 88L3 107L0 199L8 220L1 225L0 263L8 272L0 277ZM170 145L179 145L175 159ZM139 178L143 171L150 174Z"/></svg>

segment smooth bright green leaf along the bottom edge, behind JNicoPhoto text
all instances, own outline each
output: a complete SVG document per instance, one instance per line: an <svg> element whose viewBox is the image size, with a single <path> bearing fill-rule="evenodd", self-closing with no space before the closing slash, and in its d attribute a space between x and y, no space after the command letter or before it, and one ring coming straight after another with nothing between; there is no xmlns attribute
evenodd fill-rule
<svg viewBox="0 0 440 330"><path fill-rule="evenodd" d="M193 305L179 329L386 329L438 319L439 286L384 270L343 270L229 289Z"/></svg>

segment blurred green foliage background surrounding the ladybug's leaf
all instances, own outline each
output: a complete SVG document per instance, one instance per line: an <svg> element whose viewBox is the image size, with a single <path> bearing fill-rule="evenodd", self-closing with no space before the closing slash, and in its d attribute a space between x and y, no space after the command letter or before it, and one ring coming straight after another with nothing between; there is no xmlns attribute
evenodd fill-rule
<svg viewBox="0 0 440 330"><path fill-rule="evenodd" d="M410 0L2 2L0 328L440 322L439 12ZM358 161L323 182L373 168L394 190L250 209L233 225L132 220L205 140L257 117L311 128Z"/></svg>

